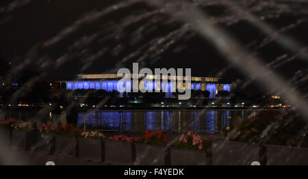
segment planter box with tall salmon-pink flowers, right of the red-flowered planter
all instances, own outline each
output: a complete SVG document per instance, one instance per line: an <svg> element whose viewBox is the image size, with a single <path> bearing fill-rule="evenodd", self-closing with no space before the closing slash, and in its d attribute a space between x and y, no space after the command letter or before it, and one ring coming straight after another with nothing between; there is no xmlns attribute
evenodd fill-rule
<svg viewBox="0 0 308 179"><path fill-rule="evenodd" d="M214 136L197 135L189 131L183 134L171 148L172 165L211 165L211 143Z"/></svg>

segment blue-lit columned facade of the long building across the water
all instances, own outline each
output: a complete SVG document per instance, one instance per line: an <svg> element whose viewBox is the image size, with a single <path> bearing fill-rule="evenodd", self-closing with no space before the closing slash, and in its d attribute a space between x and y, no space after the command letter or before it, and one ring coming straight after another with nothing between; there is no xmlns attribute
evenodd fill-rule
<svg viewBox="0 0 308 179"><path fill-rule="evenodd" d="M118 83L121 83L119 85L125 87L128 91L133 89L133 81L120 81L118 77L110 77L110 75L111 74L109 74L109 76L103 76L104 78L99 78L97 77L98 75L92 75L93 77L86 76L77 81L62 81L62 83L66 83L66 90L105 90L107 92L112 92L114 90L119 91ZM137 85L139 85L139 83ZM177 83L155 82L154 79L153 81L146 81L142 85L146 90L159 90L161 92L166 90L166 98L172 98L172 91L174 92L177 87ZM221 90L231 92L232 88L230 84L219 83L216 78L205 77L192 77L191 83L186 84L184 81L183 86L191 90L207 90L209 92L209 98L215 98L218 91ZM120 94L120 96L123 96L123 94Z"/></svg>

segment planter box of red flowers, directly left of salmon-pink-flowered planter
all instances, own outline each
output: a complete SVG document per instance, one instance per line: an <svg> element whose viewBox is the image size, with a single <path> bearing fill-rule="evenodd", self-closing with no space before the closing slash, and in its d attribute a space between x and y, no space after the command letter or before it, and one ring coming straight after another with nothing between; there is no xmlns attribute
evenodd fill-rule
<svg viewBox="0 0 308 179"><path fill-rule="evenodd" d="M170 149L166 148L168 135L162 131L146 130L143 138L135 143L136 165L170 165Z"/></svg>

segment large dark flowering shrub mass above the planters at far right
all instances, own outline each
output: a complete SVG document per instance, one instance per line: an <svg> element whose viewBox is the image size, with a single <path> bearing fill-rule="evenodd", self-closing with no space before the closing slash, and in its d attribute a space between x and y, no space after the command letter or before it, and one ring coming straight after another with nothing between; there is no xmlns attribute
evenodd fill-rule
<svg viewBox="0 0 308 179"><path fill-rule="evenodd" d="M231 141L307 147L307 132L307 122L294 111L260 111L224 134Z"/></svg>

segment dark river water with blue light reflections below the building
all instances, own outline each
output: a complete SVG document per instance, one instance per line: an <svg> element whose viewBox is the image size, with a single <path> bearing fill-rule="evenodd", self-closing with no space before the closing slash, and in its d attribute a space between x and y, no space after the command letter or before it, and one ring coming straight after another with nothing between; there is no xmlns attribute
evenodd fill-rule
<svg viewBox="0 0 308 179"><path fill-rule="evenodd" d="M196 130L208 133L220 132L230 125L233 118L255 115L253 110L172 110L172 111L97 111L79 113L78 123L87 128L105 130ZM6 117L18 120L38 118L35 111L5 111ZM3 118L4 112L0 112ZM50 119L40 115L42 121Z"/></svg>

